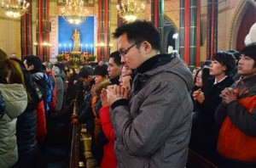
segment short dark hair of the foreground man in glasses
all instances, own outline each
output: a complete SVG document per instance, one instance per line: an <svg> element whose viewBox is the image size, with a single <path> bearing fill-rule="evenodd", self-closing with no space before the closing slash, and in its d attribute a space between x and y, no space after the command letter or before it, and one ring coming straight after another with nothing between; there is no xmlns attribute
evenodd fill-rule
<svg viewBox="0 0 256 168"><path fill-rule="evenodd" d="M127 35L128 42L137 43L137 48L139 48L140 42L147 41L151 44L152 48L158 51L160 50L160 34L152 22L136 20L125 25L120 25L113 32L113 37L118 38L124 33Z"/></svg>

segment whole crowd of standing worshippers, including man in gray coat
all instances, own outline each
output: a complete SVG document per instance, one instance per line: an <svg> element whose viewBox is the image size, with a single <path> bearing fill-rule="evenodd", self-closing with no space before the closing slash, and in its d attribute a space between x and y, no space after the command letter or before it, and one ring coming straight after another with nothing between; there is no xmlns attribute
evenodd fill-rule
<svg viewBox="0 0 256 168"><path fill-rule="evenodd" d="M256 43L191 72L177 53L159 54L150 22L113 37L108 62L79 70L0 50L0 167L35 167L48 121L73 100L71 124L85 124L97 166L185 167L188 148L218 167L256 166Z"/></svg>

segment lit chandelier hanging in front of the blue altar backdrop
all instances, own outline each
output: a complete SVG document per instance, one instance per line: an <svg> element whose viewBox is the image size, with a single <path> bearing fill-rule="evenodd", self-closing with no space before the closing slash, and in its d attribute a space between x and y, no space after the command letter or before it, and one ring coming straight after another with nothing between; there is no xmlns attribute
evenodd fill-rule
<svg viewBox="0 0 256 168"><path fill-rule="evenodd" d="M82 23L88 15L83 0L67 0L65 7L61 8L61 16L71 24Z"/></svg>

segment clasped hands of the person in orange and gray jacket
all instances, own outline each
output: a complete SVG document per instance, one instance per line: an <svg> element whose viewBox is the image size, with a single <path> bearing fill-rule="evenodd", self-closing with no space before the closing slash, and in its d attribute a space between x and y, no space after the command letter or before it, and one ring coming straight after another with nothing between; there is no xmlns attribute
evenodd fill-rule
<svg viewBox="0 0 256 168"><path fill-rule="evenodd" d="M237 99L237 93L234 89L226 87L221 91L219 97L222 98L223 104L230 104L230 102Z"/></svg>

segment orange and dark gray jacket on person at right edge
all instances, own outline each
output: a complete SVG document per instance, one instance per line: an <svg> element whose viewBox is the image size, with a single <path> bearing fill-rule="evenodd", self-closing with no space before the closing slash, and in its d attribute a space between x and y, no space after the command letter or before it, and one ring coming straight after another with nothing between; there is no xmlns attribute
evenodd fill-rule
<svg viewBox="0 0 256 168"><path fill-rule="evenodd" d="M237 100L220 104L216 120L221 125L218 152L225 159L256 165L256 76L237 81L232 87Z"/></svg>

